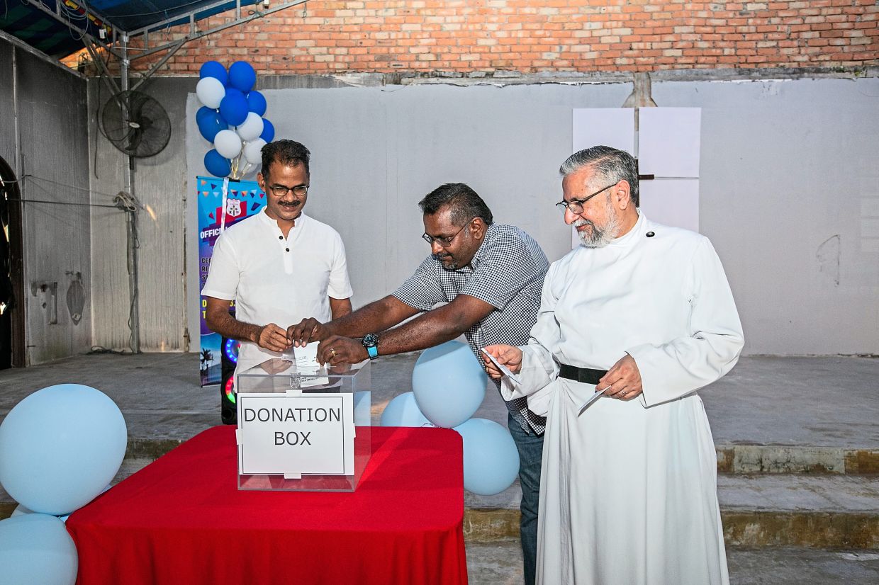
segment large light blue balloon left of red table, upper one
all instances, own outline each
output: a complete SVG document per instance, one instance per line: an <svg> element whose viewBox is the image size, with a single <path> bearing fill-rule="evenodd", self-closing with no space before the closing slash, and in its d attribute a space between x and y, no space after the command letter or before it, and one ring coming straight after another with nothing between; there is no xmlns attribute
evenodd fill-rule
<svg viewBox="0 0 879 585"><path fill-rule="evenodd" d="M35 512L63 516L113 480L127 430L106 394L80 384L38 390L0 424L0 483Z"/></svg>

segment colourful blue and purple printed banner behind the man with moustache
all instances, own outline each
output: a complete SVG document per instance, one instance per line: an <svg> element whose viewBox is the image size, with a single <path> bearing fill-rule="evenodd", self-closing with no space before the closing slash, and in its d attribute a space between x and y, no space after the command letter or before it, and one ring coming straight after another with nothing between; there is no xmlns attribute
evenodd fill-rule
<svg viewBox="0 0 879 585"><path fill-rule="evenodd" d="M205 287L211 268L214 242L223 229L251 217L265 206L265 193L255 181L232 181L216 177L195 177L199 201L199 293ZM219 384L222 379L222 337L207 329L207 301L199 295L201 307L201 386ZM233 305L234 309L234 305ZM237 352L229 350L229 359Z"/></svg>

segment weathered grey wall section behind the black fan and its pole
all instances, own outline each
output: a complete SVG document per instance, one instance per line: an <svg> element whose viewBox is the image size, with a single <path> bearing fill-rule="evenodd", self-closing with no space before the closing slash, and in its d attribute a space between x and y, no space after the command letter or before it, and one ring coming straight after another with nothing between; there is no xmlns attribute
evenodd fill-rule
<svg viewBox="0 0 879 585"><path fill-rule="evenodd" d="M171 141L156 156L137 159L134 196L144 206L138 217L138 305L141 350L187 350L185 304L185 104L197 80L157 77L138 90L156 97L171 119ZM95 117L110 92L98 79L89 83L95 202L106 203L124 187L127 158L98 132ZM93 208L94 343L108 348L129 345L130 294L125 214ZM193 232L191 232L193 233ZM198 264L193 264L197 266ZM198 329L195 335L198 336ZM198 340L196 340L197 350Z"/></svg>

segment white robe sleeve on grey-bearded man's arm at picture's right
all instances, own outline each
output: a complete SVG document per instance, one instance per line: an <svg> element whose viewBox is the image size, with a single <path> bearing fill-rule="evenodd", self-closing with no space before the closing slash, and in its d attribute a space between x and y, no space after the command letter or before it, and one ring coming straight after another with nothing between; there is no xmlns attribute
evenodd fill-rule
<svg viewBox="0 0 879 585"><path fill-rule="evenodd" d="M678 399L720 379L736 365L745 344L730 284L708 238L695 249L685 294L690 303L689 336L627 351L641 372L644 407Z"/></svg>

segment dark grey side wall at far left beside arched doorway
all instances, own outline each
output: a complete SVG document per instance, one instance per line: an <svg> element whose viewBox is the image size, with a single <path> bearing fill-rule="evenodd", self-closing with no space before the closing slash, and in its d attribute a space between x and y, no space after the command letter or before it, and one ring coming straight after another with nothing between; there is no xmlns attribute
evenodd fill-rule
<svg viewBox="0 0 879 585"><path fill-rule="evenodd" d="M76 205L90 200L86 84L82 76L5 38L0 61L0 156L19 173L23 199L52 202L23 205L25 359L39 364L91 344L89 207ZM75 324L66 295L77 278L85 287L86 307ZM40 283L57 283L55 324L49 322L51 298L31 294L31 285Z"/></svg>

